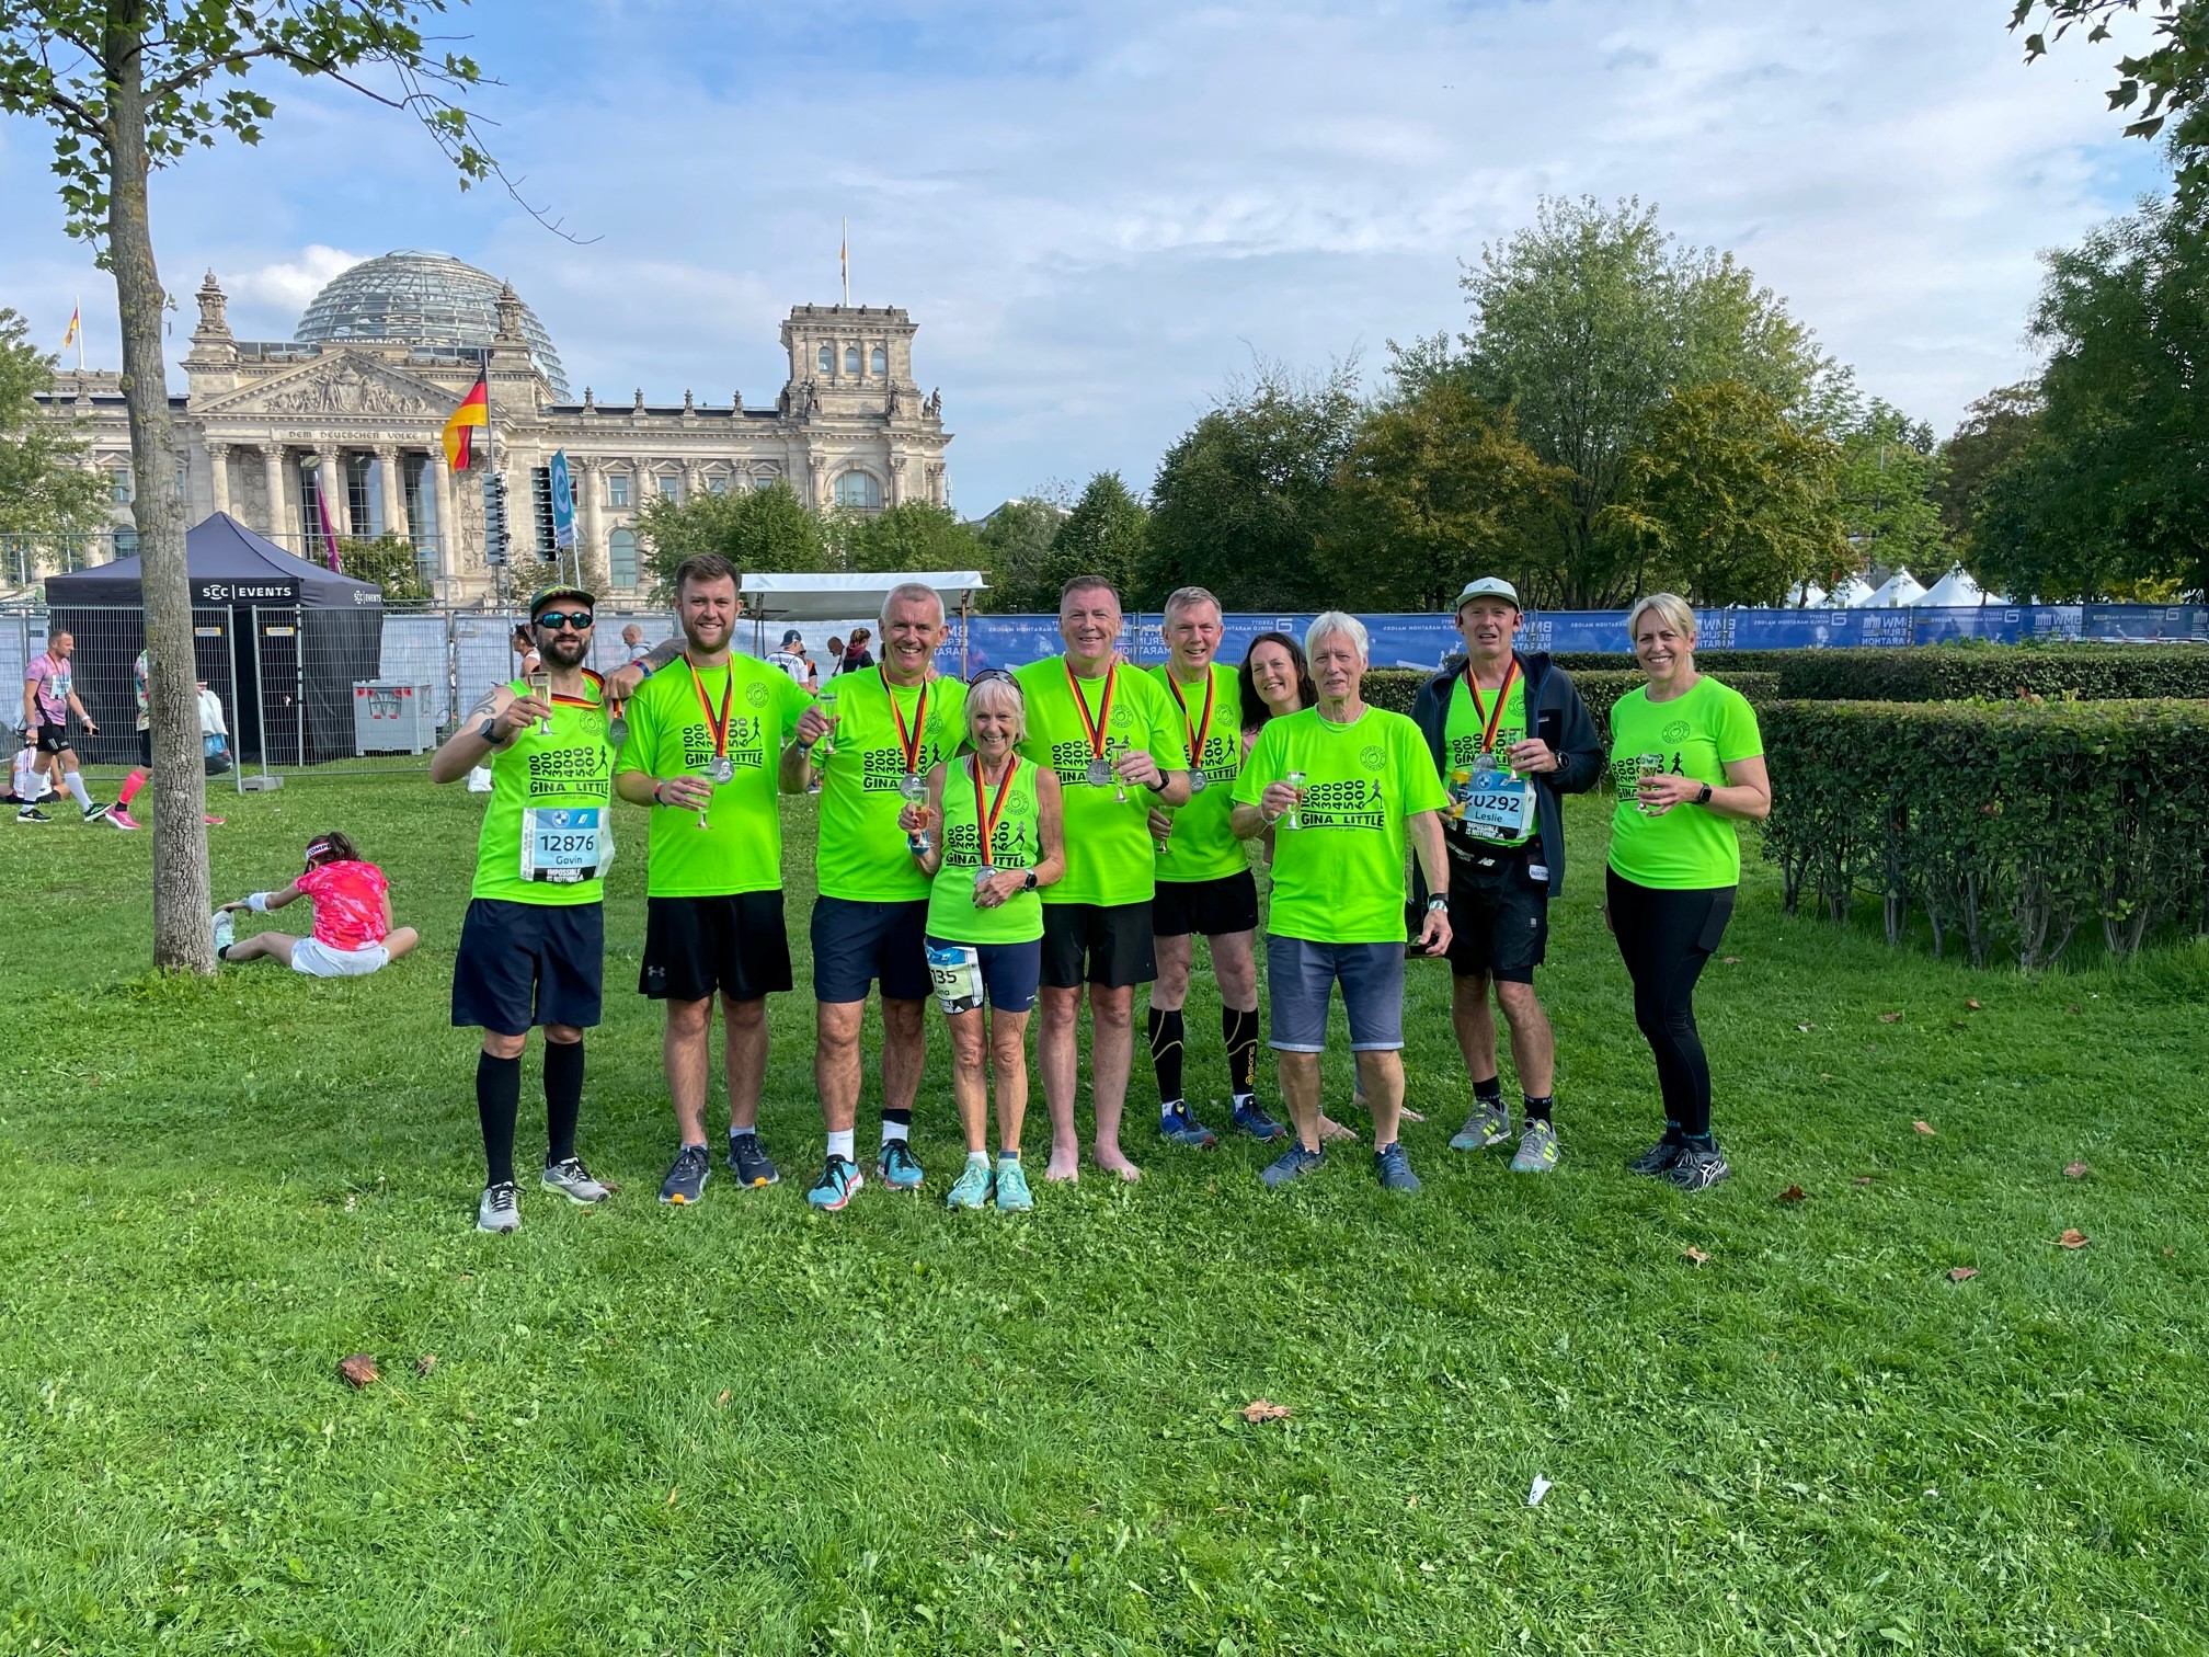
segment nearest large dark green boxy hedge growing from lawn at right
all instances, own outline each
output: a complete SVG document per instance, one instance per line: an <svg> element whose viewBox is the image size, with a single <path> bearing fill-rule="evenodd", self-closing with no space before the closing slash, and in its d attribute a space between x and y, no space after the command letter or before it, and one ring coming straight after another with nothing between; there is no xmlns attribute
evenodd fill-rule
<svg viewBox="0 0 2209 1657"><path fill-rule="evenodd" d="M1849 652L1862 656L1867 652ZM1882 897L1933 952L2054 961L2099 926L2127 957L2163 924L2209 930L2209 703L1803 703L1761 709L1765 857L1787 908Z"/></svg>

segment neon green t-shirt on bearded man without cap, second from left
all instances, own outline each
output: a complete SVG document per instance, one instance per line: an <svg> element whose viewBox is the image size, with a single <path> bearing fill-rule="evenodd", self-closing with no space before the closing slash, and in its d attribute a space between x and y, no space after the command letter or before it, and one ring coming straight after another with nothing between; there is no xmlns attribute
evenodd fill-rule
<svg viewBox="0 0 2209 1657"><path fill-rule="evenodd" d="M630 698L630 740L616 771L647 778L707 773L714 722L729 709L729 764L736 775L714 784L707 826L696 811L647 806L652 813L652 897L727 897L782 888L782 809L775 764L813 698L780 667L729 656L727 667L667 663Z"/></svg>

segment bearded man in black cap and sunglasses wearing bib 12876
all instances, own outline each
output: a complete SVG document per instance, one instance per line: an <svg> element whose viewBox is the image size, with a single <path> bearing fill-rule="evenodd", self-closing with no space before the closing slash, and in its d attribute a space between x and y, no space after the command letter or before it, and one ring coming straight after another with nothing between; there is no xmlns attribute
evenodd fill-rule
<svg viewBox="0 0 2209 1657"><path fill-rule="evenodd" d="M614 862L605 680L583 667L594 603L570 585L532 594L528 634L541 669L495 685L429 762L431 782L490 767L475 886L453 957L453 1023L484 1030L475 1109L488 1178L477 1231L521 1224L515 1118L521 1049L535 1025L546 1032L548 1149L539 1182L570 1202L607 1195L574 1153L583 1032L599 1023L605 965L601 899Z"/></svg>

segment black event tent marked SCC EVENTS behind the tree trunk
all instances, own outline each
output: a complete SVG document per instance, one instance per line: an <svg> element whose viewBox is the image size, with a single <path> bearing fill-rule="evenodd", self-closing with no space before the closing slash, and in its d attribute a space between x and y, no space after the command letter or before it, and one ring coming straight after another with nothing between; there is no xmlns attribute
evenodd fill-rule
<svg viewBox="0 0 2209 1657"><path fill-rule="evenodd" d="M243 758L320 764L353 751L353 680L376 678L384 590L294 559L265 535L216 513L183 537L192 583L192 654L223 698ZM77 696L99 725L80 738L88 760L137 756L130 665L146 647L144 570L117 559L46 577L49 632L77 641Z"/></svg>

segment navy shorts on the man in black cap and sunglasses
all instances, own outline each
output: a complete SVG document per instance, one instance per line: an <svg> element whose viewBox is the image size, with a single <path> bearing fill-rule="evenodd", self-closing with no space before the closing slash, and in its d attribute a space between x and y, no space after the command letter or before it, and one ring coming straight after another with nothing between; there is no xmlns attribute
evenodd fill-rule
<svg viewBox="0 0 2209 1657"><path fill-rule="evenodd" d="M524 1036L537 1025L590 1030L603 983L603 904L471 899L453 957L455 1025L493 1036Z"/></svg>

